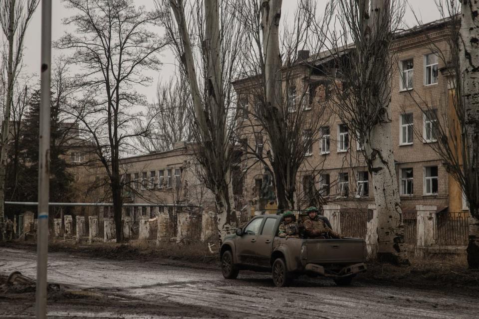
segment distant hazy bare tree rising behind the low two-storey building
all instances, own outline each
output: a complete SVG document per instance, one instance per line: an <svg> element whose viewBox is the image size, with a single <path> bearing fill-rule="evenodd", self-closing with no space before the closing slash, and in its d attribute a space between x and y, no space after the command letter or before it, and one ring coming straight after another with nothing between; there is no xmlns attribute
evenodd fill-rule
<svg viewBox="0 0 479 319"><path fill-rule="evenodd" d="M150 132L146 137L138 137L141 147L148 153L164 152L173 149L176 142L190 142L191 95L186 79L172 78L167 83L158 83L156 98L147 114L147 119L152 120ZM137 130L145 131L143 122L137 124Z"/></svg>

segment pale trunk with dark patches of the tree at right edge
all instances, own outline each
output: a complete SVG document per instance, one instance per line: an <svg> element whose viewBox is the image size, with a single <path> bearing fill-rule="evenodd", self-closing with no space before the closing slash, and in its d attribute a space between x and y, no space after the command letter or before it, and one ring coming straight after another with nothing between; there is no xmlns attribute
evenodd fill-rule
<svg viewBox="0 0 479 319"><path fill-rule="evenodd" d="M478 189L477 180L479 169L479 3L478 1L461 1L461 71L463 76L463 103L465 106L467 145L469 154L467 160L470 171L474 176L468 176L468 193L470 200L471 218L469 221L468 264L472 269L479 269L479 209L478 195L473 194ZM468 195L469 195L468 194ZM468 196L468 197L471 197Z"/></svg>

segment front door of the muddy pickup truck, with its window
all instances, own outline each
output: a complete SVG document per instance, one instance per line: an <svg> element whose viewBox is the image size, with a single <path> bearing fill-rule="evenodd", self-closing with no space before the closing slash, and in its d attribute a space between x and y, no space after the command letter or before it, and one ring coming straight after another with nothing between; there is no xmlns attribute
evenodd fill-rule
<svg viewBox="0 0 479 319"><path fill-rule="evenodd" d="M243 229L242 236L237 237L236 252L241 264L255 265L255 243L263 217L252 219Z"/></svg>

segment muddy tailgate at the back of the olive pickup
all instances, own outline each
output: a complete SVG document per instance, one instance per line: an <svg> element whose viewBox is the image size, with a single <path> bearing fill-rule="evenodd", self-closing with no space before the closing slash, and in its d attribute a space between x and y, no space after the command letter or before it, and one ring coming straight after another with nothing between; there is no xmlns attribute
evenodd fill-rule
<svg viewBox="0 0 479 319"><path fill-rule="evenodd" d="M308 263L362 263L367 257L364 239L307 239L305 244Z"/></svg>

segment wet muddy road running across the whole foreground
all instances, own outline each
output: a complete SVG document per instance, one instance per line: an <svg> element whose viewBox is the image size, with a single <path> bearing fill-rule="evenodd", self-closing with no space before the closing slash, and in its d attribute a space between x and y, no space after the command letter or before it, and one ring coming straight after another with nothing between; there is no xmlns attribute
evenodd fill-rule
<svg viewBox="0 0 479 319"><path fill-rule="evenodd" d="M0 276L12 271L35 277L35 254L0 248ZM51 318L477 318L479 310L478 297L467 291L361 280L336 287L308 277L276 288L264 273L224 280L218 270L66 253L49 254L48 281L64 287L49 295ZM33 292L0 292L0 318L33 314Z"/></svg>

